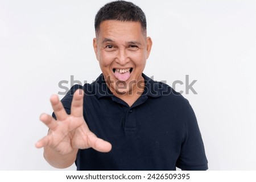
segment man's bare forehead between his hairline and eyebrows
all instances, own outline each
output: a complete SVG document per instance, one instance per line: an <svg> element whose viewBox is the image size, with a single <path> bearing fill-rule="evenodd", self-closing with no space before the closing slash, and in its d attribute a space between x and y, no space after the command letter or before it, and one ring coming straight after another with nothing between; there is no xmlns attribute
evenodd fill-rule
<svg viewBox="0 0 256 182"><path fill-rule="evenodd" d="M140 22L105 20L101 22L98 36L144 36Z"/></svg>

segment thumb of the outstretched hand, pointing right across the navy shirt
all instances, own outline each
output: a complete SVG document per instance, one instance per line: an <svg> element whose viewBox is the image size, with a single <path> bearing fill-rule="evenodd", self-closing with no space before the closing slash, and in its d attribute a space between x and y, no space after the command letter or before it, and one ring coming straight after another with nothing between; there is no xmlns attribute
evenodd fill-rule
<svg viewBox="0 0 256 182"><path fill-rule="evenodd" d="M96 137L94 133L88 134L88 145L102 153L108 153L112 149L112 145L109 142Z"/></svg>

